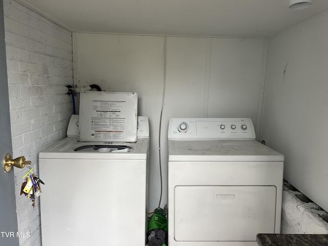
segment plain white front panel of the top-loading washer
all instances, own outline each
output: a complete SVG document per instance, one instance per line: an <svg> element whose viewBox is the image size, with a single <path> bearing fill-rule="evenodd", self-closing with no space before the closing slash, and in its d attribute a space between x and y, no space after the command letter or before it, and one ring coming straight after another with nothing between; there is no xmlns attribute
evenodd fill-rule
<svg viewBox="0 0 328 246"><path fill-rule="evenodd" d="M146 160L43 158L39 175L43 245L145 245Z"/></svg>

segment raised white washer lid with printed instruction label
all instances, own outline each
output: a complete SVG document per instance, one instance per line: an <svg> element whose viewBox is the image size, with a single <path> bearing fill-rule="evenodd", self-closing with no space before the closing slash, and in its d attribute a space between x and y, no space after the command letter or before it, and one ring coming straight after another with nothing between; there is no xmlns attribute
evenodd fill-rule
<svg viewBox="0 0 328 246"><path fill-rule="evenodd" d="M137 93L80 93L79 141L137 140Z"/></svg>

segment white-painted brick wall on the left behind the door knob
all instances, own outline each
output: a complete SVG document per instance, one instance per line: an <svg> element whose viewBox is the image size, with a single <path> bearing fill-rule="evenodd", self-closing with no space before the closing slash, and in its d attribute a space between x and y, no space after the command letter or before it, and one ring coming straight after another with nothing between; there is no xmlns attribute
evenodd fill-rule
<svg viewBox="0 0 328 246"><path fill-rule="evenodd" d="M72 115L72 33L15 1L4 0L4 14L13 157L37 174L38 152L66 136ZM19 245L41 245L39 199L33 210L20 196L28 169L14 169Z"/></svg>

